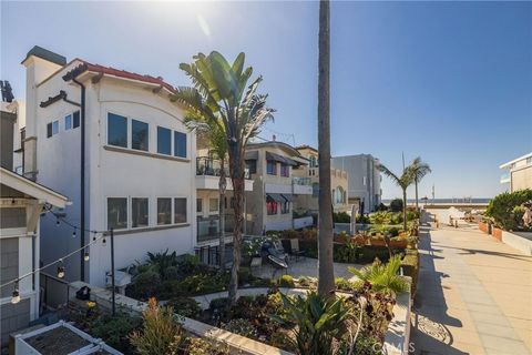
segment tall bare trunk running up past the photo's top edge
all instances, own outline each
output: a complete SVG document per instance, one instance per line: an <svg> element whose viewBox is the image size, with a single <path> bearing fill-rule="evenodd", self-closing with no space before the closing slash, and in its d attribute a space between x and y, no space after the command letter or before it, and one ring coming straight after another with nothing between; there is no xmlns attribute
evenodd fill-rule
<svg viewBox="0 0 532 355"><path fill-rule="evenodd" d="M318 222L318 293L329 295L335 290L332 266L332 215L330 206L330 10L329 1L319 3L318 61L318 151L319 151L319 222Z"/></svg>

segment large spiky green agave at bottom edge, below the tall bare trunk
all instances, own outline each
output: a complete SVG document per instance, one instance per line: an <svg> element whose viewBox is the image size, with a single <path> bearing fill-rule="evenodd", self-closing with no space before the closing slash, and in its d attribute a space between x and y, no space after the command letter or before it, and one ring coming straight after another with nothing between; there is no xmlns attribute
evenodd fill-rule
<svg viewBox="0 0 532 355"><path fill-rule="evenodd" d="M280 294L285 312L270 318L291 326L293 343L300 355L334 354L332 343L345 332L345 323L352 317L351 308L345 300L309 292L307 295L287 297Z"/></svg>

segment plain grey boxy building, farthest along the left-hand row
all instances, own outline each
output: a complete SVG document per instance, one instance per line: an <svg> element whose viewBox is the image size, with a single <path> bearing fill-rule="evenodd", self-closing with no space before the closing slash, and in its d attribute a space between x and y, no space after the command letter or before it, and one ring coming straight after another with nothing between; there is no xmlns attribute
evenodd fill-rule
<svg viewBox="0 0 532 355"><path fill-rule="evenodd" d="M348 203L359 207L364 204L365 213L375 211L382 195L379 160L371 154L335 156L332 166L348 174Z"/></svg>

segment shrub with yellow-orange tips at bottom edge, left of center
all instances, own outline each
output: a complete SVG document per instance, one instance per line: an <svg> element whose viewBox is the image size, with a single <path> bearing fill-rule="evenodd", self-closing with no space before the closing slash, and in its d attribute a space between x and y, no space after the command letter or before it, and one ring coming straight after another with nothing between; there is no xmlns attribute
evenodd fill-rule
<svg viewBox="0 0 532 355"><path fill-rule="evenodd" d="M142 313L144 324L141 331L130 336L131 344L141 355L160 355L177 353L185 339L178 318L172 307L157 306L155 298L150 298L149 307Z"/></svg>

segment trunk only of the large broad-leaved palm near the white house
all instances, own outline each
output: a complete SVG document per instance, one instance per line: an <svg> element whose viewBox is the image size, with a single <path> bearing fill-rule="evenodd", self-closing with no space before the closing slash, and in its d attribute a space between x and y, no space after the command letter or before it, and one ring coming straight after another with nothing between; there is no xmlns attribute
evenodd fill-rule
<svg viewBox="0 0 532 355"><path fill-rule="evenodd" d="M229 152L229 174L233 183L233 193L235 197L235 231L233 236L233 266L231 268L231 280L228 298L229 304L236 304L236 294L238 291L238 271L241 268L242 260L242 227L244 224L244 150L239 149L234 141L228 143Z"/></svg>

